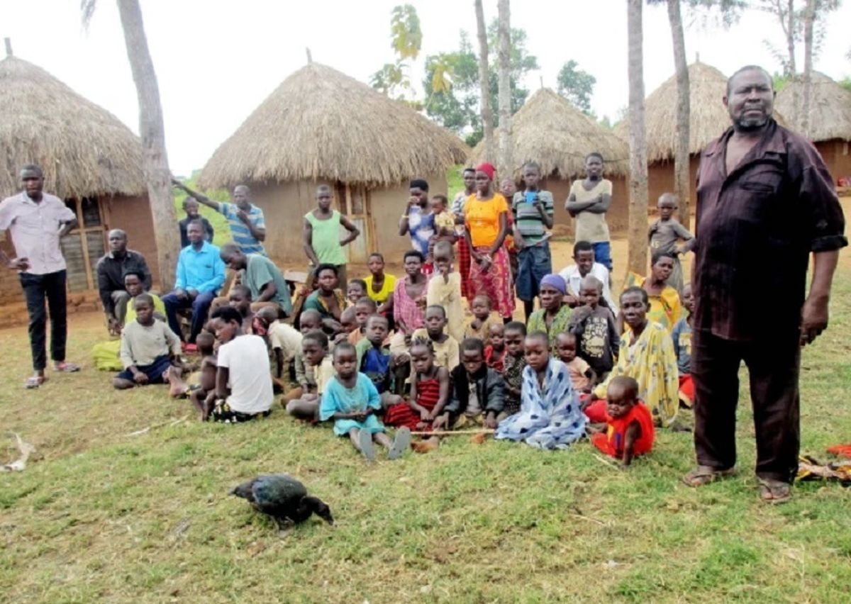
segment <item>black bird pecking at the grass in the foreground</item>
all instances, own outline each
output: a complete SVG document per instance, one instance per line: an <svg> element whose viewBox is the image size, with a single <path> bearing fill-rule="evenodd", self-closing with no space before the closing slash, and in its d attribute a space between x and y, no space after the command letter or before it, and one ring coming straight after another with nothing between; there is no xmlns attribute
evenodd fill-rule
<svg viewBox="0 0 851 604"><path fill-rule="evenodd" d="M300 481L286 474L257 476L243 482L230 494L248 500L254 510L274 518L280 530L306 521L311 514L316 514L330 525L334 524L328 504L309 496Z"/></svg>

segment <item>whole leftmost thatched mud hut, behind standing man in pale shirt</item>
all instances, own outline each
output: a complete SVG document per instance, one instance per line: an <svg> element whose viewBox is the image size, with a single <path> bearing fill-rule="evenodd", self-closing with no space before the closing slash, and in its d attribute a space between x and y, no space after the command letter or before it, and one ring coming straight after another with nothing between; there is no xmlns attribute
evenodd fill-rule
<svg viewBox="0 0 851 604"><path fill-rule="evenodd" d="M131 247L157 274L141 161L140 140L117 117L26 60L0 60L0 197L20 191L20 167L37 163L45 191L77 213L79 227L62 240L68 289L81 294L71 303L85 300L93 307L94 265L106 252L110 228L128 231ZM10 241L3 246L13 254ZM23 299L16 279L0 271L0 304Z"/></svg>

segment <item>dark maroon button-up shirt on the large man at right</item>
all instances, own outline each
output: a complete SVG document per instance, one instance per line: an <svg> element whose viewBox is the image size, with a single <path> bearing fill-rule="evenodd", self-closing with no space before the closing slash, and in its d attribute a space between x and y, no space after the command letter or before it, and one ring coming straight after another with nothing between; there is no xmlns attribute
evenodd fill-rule
<svg viewBox="0 0 851 604"><path fill-rule="evenodd" d="M848 239L831 174L813 145L771 120L726 174L732 134L700 157L694 329L751 341L800 327L809 253Z"/></svg>

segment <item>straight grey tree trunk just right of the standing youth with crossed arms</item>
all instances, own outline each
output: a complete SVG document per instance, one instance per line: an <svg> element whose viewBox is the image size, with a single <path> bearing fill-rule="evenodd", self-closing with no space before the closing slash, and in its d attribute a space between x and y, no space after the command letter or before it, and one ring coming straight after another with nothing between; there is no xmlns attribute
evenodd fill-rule
<svg viewBox="0 0 851 604"><path fill-rule="evenodd" d="M647 137L644 131L643 0L627 2L630 77L630 219L628 269L647 272Z"/></svg>

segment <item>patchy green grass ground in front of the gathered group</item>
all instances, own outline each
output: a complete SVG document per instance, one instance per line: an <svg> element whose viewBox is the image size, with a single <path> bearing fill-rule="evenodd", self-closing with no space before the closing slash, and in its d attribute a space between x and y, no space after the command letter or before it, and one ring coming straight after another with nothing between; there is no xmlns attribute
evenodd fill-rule
<svg viewBox="0 0 851 604"><path fill-rule="evenodd" d="M831 328L803 355L802 448L820 459L851 439L849 269L846 253ZM586 442L541 453L462 436L368 466L279 410L201 425L163 387L119 394L86 363L101 317L72 321L69 358L86 367L37 391L20 387L26 330L0 332L0 459L15 457L9 432L42 456L0 475L2 601L848 601L851 491L807 483L791 504L760 504L744 387L740 475L698 490L678 481L691 437L667 432L626 472ZM337 527L282 538L226 495L278 471Z"/></svg>

